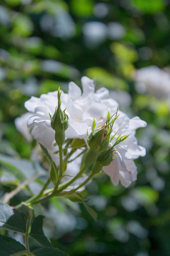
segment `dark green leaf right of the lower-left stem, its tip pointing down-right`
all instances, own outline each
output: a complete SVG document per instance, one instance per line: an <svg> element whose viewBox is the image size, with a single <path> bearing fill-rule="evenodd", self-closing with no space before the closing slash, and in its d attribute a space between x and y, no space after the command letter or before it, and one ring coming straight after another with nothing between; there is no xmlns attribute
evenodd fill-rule
<svg viewBox="0 0 170 256"><path fill-rule="evenodd" d="M30 236L43 246L51 247L51 243L43 232L43 216L39 215L33 220Z"/></svg>

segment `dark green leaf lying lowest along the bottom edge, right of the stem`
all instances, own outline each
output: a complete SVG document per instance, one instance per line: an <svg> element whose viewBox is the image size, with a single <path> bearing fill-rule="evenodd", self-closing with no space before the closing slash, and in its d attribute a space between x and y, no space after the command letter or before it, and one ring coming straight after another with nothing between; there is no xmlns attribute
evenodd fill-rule
<svg viewBox="0 0 170 256"><path fill-rule="evenodd" d="M35 256L69 256L65 252L51 247L42 247L32 252Z"/></svg>

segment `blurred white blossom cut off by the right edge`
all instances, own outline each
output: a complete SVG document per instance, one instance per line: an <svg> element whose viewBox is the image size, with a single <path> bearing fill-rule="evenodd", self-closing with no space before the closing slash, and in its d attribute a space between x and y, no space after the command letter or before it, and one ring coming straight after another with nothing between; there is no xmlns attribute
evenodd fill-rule
<svg viewBox="0 0 170 256"><path fill-rule="evenodd" d="M149 93L158 99L170 98L170 73L148 66L135 72L135 88L139 93Z"/></svg>

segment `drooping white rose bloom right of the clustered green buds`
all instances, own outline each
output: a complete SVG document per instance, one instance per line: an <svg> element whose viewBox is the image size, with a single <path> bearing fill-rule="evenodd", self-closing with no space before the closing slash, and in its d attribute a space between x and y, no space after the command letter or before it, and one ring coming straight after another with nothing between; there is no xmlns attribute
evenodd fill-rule
<svg viewBox="0 0 170 256"><path fill-rule="evenodd" d="M146 122L137 116L129 119L124 113L119 113L120 116L113 125L112 133L117 132L117 134L112 143L114 144L119 134L121 136L129 135L129 137L115 146L117 156L108 166L104 166L103 170L110 176L115 186L119 184L120 180L124 187L128 187L132 181L137 179L137 167L133 160L146 154L145 148L139 146L135 138L135 130L145 127Z"/></svg>

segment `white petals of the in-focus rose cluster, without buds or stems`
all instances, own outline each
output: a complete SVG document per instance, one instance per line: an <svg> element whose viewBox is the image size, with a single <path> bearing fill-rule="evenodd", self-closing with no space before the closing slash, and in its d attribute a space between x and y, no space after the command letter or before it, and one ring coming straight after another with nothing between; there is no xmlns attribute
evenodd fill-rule
<svg viewBox="0 0 170 256"><path fill-rule="evenodd" d="M61 93L61 109L66 108L68 115L69 126L65 131L66 137L84 139L87 143L86 134L87 131L91 132L93 120L96 120L96 128L104 124L108 111L111 116L117 112L118 103L109 98L109 90L106 88L100 88L95 92L94 82L90 78L83 76L81 82L82 91L74 82L70 82L68 93ZM31 135L48 150L55 150L55 132L51 128L49 114L53 116L55 112L57 93L58 91L42 94L40 98L32 96L25 102L25 108L32 115L27 120ZM113 144L120 134L129 137L115 146L117 156L103 170L111 177L113 184L117 185L120 180L122 185L127 187L137 178L137 167L133 160L146 154L145 148L139 146L135 138L136 129L145 127L146 122L139 117L130 119L119 110L117 115L119 116L115 120L111 134L116 134Z"/></svg>

